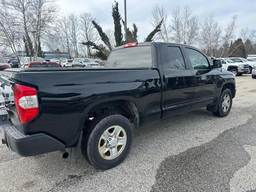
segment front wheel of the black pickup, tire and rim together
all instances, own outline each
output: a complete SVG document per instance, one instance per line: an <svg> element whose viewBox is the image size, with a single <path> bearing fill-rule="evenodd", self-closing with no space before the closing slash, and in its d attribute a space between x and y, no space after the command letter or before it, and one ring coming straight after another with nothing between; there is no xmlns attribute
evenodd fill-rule
<svg viewBox="0 0 256 192"><path fill-rule="evenodd" d="M232 92L230 89L225 89L219 98L218 110L216 112L212 112L215 116L225 117L229 114L231 106L232 106Z"/></svg>

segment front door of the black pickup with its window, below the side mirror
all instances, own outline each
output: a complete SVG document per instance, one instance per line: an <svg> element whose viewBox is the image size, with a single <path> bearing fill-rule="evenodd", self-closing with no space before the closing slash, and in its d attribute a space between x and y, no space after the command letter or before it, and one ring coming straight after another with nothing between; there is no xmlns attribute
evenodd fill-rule
<svg viewBox="0 0 256 192"><path fill-rule="evenodd" d="M191 65L194 84L193 104L190 110L205 107L218 101L219 74L212 69L212 62L197 49L184 47L186 57Z"/></svg>

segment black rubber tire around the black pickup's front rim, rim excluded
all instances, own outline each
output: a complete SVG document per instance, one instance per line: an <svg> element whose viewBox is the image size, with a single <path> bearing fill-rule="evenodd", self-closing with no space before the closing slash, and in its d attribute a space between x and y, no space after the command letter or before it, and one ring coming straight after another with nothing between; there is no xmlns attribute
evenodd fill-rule
<svg viewBox="0 0 256 192"><path fill-rule="evenodd" d="M224 96L228 94L228 96L230 97L230 105L229 108L226 112L224 112L223 108L222 108L222 102L224 100ZM212 114L214 114L215 116L218 117L225 117L229 114L230 109L232 107L232 100L233 100L233 96L232 96L232 92L230 89L225 89L222 91L222 93L220 94L220 98L219 98L219 103L218 103L218 110L216 112L212 112Z"/></svg>

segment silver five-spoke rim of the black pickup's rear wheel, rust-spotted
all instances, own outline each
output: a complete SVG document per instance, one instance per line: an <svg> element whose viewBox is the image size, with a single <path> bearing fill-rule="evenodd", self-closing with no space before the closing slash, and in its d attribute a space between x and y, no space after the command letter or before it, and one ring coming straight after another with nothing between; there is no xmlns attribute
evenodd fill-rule
<svg viewBox="0 0 256 192"><path fill-rule="evenodd" d="M98 150L102 158L110 160L119 156L126 145L126 132L121 126L107 128L100 137Z"/></svg>

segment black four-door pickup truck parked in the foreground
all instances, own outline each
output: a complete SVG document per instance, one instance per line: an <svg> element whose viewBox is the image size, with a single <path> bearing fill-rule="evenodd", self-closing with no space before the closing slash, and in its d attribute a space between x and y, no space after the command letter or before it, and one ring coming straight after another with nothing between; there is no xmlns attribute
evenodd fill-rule
<svg viewBox="0 0 256 192"><path fill-rule="evenodd" d="M2 142L21 156L60 151L108 169L126 158L133 128L206 107L230 112L232 73L183 44L131 43L112 50L105 67L23 68L0 73L11 120ZM195 125L196 126L196 125Z"/></svg>

